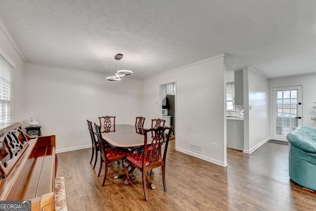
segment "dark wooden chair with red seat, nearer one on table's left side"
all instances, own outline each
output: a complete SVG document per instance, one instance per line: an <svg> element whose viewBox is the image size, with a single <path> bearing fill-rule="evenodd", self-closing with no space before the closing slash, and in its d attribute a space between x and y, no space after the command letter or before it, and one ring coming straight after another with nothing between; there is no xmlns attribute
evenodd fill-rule
<svg viewBox="0 0 316 211"><path fill-rule="evenodd" d="M94 123L94 127L95 127L95 132L97 134L97 138L100 145L100 151L101 151L100 152L100 169L99 169L98 177L100 176L103 162L105 163L105 173L104 173L104 178L103 178L103 183L102 183L102 186L104 186L105 181L107 179L109 164L112 162L126 159L127 156L132 155L132 152L128 151L127 149L126 150L118 149L114 147L106 148L107 143L106 143L106 140L102 138L101 127L96 125L95 123Z"/></svg>

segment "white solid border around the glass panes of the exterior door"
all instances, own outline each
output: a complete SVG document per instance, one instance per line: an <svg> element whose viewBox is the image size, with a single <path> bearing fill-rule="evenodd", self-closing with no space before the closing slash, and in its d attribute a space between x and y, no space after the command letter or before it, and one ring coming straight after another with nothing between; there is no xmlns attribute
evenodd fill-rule
<svg viewBox="0 0 316 211"><path fill-rule="evenodd" d="M284 85L284 86L276 86L276 87L271 87L271 120L270 120L270 136L271 139L276 139L276 140L282 140L282 141L287 141L286 136L284 135L275 135L275 126L276 126L276 106L274 104L274 100L275 100L275 93L274 90L275 89L286 89L286 88L294 88L294 87L298 87L298 89L300 89L300 94L301 94L301 99L299 100L299 102L301 102L301 105L298 105L298 116L302 117L302 119L298 119L298 126L302 126L303 125L303 85Z"/></svg>

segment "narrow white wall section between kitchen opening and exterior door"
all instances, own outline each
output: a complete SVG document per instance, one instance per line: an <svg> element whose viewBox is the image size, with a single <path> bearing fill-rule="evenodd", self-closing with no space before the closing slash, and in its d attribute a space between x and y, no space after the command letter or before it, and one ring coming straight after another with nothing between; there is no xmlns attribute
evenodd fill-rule
<svg viewBox="0 0 316 211"><path fill-rule="evenodd" d="M270 137L269 80L251 67L243 69L244 151L252 153ZM249 110L249 106L252 109Z"/></svg>

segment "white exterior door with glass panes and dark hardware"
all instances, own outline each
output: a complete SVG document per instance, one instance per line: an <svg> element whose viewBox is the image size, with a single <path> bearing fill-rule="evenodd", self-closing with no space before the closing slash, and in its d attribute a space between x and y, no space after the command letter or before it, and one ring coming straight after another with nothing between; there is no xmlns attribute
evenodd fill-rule
<svg viewBox="0 0 316 211"><path fill-rule="evenodd" d="M287 141L286 135L302 126L302 86L272 88L272 139Z"/></svg>

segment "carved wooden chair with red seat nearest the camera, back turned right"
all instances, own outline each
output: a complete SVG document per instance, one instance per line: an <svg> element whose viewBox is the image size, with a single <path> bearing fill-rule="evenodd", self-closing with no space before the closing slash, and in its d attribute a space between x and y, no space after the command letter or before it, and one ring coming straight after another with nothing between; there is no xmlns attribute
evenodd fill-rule
<svg viewBox="0 0 316 211"><path fill-rule="evenodd" d="M165 130L167 129L169 131L168 133L165 133ZM126 158L126 163L129 164L129 166L131 167L131 174L135 168L139 169L142 172L143 190L146 201L148 201L146 181L149 183L151 189L155 189L155 185L151 183L150 178L147 175L147 171L149 170L161 167L163 190L167 191L167 186L165 182L165 166L171 130L172 126L144 129L144 150L142 152L137 152L135 154L129 155ZM154 137L147 135L149 132L153 132ZM161 156L161 153L159 153L159 151L161 151L162 145L164 145L164 150L163 155ZM151 147L151 150L148 150L149 147ZM128 184L130 181L128 170L129 167L126 166L125 172L127 180L124 182L124 184Z"/></svg>

